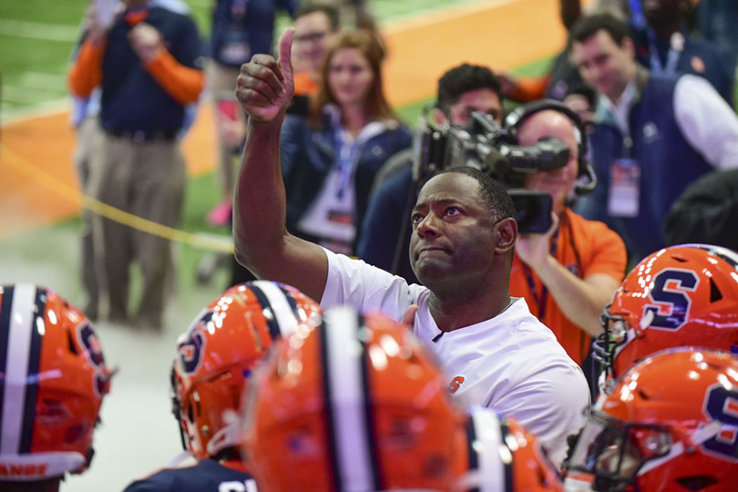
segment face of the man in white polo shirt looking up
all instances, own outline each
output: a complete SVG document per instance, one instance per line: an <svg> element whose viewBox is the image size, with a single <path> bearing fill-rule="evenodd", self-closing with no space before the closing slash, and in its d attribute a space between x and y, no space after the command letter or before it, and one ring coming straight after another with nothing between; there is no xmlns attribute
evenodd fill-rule
<svg viewBox="0 0 738 492"><path fill-rule="evenodd" d="M484 278L491 268L494 222L477 179L450 172L428 180L411 220L410 264L429 289Z"/></svg>

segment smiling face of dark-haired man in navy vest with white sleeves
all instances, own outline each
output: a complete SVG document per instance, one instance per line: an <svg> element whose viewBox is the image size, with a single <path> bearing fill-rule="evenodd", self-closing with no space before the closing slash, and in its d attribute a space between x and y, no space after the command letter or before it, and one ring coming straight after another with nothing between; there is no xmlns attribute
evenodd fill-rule
<svg viewBox="0 0 738 492"><path fill-rule="evenodd" d="M615 43L610 33L600 29L584 41L575 41L571 61L579 68L579 75L600 94L618 101L625 87L635 77L633 42L623 39Z"/></svg>

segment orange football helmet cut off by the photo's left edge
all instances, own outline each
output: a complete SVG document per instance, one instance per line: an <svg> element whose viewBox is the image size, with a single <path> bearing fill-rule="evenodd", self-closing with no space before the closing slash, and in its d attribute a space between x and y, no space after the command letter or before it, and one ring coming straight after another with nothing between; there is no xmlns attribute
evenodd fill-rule
<svg viewBox="0 0 738 492"><path fill-rule="evenodd" d="M56 292L0 286L0 482L80 473L113 374L85 314Z"/></svg>

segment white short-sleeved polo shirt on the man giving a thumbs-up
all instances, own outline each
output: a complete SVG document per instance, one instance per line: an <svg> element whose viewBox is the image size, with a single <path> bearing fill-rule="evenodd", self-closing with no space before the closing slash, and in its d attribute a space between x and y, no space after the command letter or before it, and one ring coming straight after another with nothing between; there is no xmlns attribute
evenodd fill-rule
<svg viewBox="0 0 738 492"><path fill-rule="evenodd" d="M419 306L415 334L449 377L449 387L467 407L485 406L512 415L538 438L557 466L567 436L579 433L589 407L589 387L579 365L522 298L491 320L441 333L428 308L430 291L360 260L325 250L328 280L321 305L349 304L400 321L410 304Z"/></svg>

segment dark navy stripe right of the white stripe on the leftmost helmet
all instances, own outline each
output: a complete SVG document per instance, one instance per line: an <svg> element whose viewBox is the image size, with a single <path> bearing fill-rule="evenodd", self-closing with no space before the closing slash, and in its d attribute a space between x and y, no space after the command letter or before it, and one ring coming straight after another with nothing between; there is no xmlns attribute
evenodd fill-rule
<svg viewBox="0 0 738 492"><path fill-rule="evenodd" d="M30 343L28 348L28 370L29 377L34 377L33 381L28 381L26 388L25 412L26 420L23 423L23 435L21 436L20 451L22 453L31 452L31 439L34 432L34 420L36 415L36 395L38 394L38 370L41 366L41 342L43 340L42 333L38 329L39 325L44 324L44 316L46 313L46 289L36 289L35 292L36 309L32 310L33 320L28 326L30 329ZM61 322L61 320L58 320Z"/></svg>

